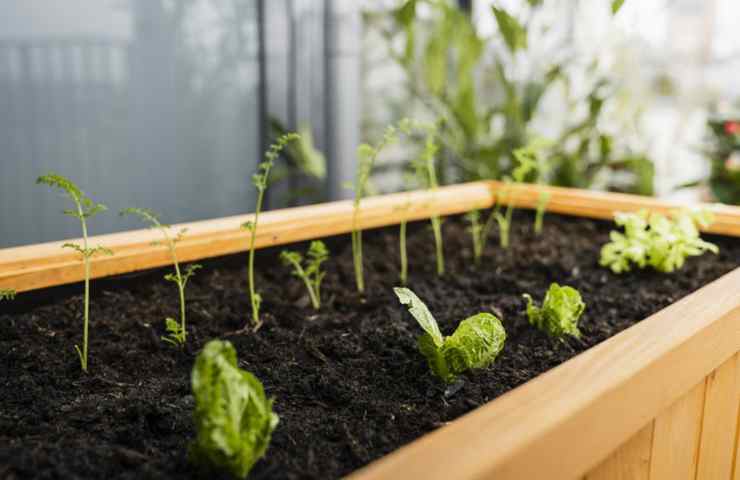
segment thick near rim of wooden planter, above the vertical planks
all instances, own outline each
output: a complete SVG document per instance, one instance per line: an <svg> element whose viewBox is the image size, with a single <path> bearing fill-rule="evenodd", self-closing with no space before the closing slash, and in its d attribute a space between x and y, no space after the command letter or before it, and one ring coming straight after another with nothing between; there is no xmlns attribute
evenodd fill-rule
<svg viewBox="0 0 740 480"><path fill-rule="evenodd" d="M578 478L740 351L738 325L740 269L350 478Z"/></svg>

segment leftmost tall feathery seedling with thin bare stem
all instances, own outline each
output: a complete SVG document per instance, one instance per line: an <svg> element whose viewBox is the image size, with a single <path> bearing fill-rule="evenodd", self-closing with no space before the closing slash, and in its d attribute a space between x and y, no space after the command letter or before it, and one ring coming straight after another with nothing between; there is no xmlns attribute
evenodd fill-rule
<svg viewBox="0 0 740 480"><path fill-rule="evenodd" d="M85 195L85 192L75 185L72 181L64 178L56 173L47 173L46 175L40 176L36 180L37 184L48 185L52 188L58 188L64 192L64 194L72 200L74 203L73 209L64 210L65 215L74 217L80 221L82 226L82 246L76 243L65 243L62 248L70 248L75 250L82 256L82 262L85 268L85 305L84 305L84 326L82 334L82 349L78 345L75 345L77 355L80 357L80 365L82 371L87 373L87 344L88 344L88 325L90 323L90 259L97 253L104 253L107 255L113 255L113 252L109 249L97 246L90 247L87 239L87 219L92 218L98 213L106 211L108 208L101 204L95 203Z"/></svg>

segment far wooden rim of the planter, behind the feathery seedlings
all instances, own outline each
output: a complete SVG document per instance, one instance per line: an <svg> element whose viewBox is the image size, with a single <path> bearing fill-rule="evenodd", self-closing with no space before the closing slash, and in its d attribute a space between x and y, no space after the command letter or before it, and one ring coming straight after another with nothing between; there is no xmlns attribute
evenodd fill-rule
<svg viewBox="0 0 740 480"><path fill-rule="evenodd" d="M495 181L472 182L441 187L436 191L370 197L361 204L359 225L363 229L376 228L397 224L402 220L429 218L435 214L452 215L488 208L494 204L496 193L502 187L500 182ZM547 191L551 195L548 211L593 218L612 218L616 211L640 208L666 211L677 207L636 195L533 185L513 185L508 188L512 193L507 199L517 206L532 208L537 205L540 192ZM715 223L708 231L740 235L737 209L718 204L705 207L715 212L716 216ZM178 257L187 262L248 250L249 234L240 225L251 219L252 215L249 214L174 225L174 231L188 229L186 237L177 246ZM92 227L94 230L94 223ZM347 233L351 228L351 201L276 210L260 216L256 243L257 248L265 248ZM93 259L92 277L101 278L168 265L170 257L167 250L151 245L152 241L159 238L159 232L150 229L92 237L92 245L104 245L115 253L113 256ZM83 268L79 256L69 249L62 249L63 243L0 249L0 288L23 292L81 281Z"/></svg>

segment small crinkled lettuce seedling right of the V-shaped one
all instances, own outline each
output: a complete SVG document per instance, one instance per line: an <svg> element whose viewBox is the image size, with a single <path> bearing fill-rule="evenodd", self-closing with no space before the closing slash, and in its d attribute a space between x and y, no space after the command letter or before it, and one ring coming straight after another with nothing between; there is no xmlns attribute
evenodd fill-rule
<svg viewBox="0 0 740 480"><path fill-rule="evenodd" d="M525 293L524 298L527 300L529 323L551 337L562 338L571 335L581 338L578 319L586 309L586 304L581 300L578 290L552 283L541 307L534 304L529 294Z"/></svg>

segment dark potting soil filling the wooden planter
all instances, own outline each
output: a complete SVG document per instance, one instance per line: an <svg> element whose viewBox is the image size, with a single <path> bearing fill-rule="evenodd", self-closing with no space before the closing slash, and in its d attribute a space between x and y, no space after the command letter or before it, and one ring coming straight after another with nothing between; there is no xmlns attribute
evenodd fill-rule
<svg viewBox="0 0 740 480"><path fill-rule="evenodd" d="M246 255L204 262L188 286L184 350L160 340L163 319L178 313L163 270L95 281L88 375L73 350L82 331L80 286L0 304L0 478L197 477L186 459L190 371L198 349L217 337L234 344L240 366L262 380L280 416L250 478L336 478L639 322L740 259L739 239L709 236L721 253L692 258L680 272L614 275L598 266L613 224L548 215L535 236L522 213L512 246L501 249L492 237L477 268L465 225L447 219L447 273L438 278L427 225L410 226L409 286L443 333L489 311L502 317L508 336L495 364L465 375L452 396L429 373L416 349L421 330L392 292L397 227L365 234L364 296L354 288L345 235L328 240L319 312L279 263L279 249L259 253L265 325L257 333L228 334L249 318ZM552 340L527 323L521 294L541 300L554 281L583 295L581 341Z"/></svg>

